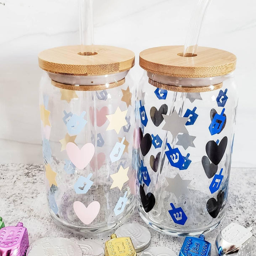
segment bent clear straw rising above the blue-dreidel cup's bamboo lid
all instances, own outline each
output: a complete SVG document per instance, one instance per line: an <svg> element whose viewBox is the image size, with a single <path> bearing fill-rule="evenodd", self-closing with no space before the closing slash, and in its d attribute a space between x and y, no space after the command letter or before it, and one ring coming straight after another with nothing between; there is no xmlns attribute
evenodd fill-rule
<svg viewBox="0 0 256 256"><path fill-rule="evenodd" d="M183 49L184 57L192 57L197 53L198 38L203 23L204 16L212 0L199 0L191 16L190 27Z"/></svg>

